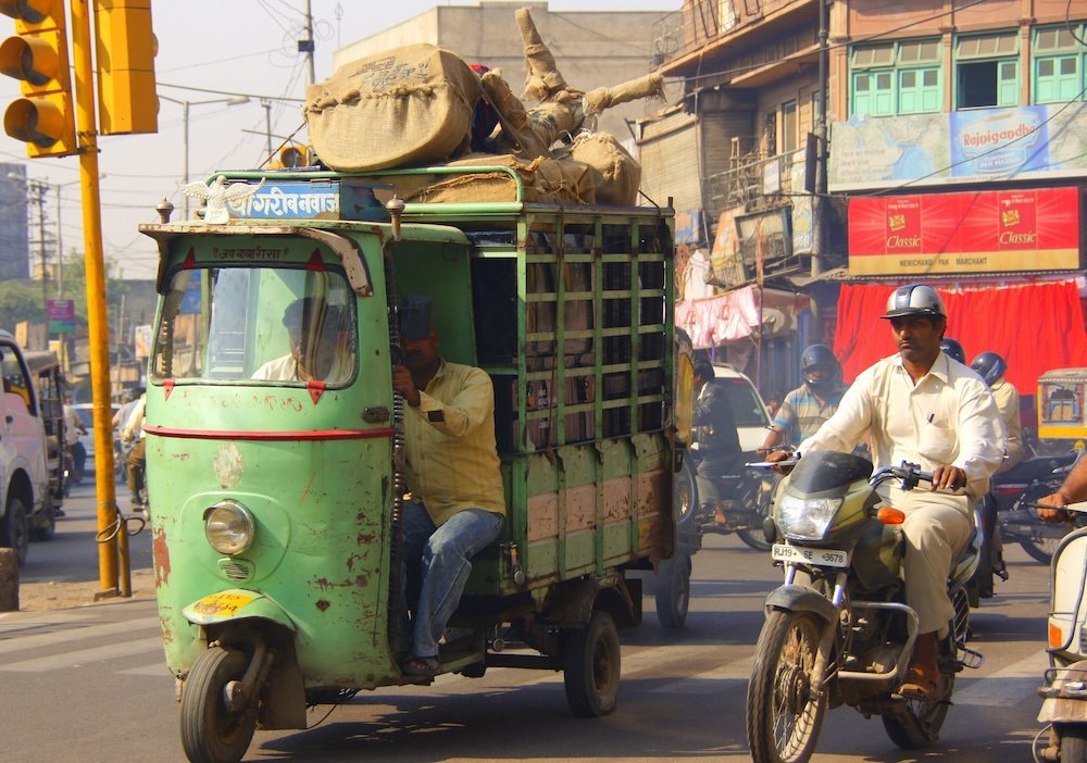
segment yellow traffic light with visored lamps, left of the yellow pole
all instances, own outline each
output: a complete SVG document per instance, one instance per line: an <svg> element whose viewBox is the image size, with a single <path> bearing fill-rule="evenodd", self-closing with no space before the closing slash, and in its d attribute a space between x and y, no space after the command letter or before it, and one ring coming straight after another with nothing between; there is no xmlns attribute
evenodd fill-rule
<svg viewBox="0 0 1087 763"><path fill-rule="evenodd" d="M23 90L4 112L4 132L32 159L76 153L63 0L0 0L0 13L15 20L17 35L0 42L0 72Z"/></svg>

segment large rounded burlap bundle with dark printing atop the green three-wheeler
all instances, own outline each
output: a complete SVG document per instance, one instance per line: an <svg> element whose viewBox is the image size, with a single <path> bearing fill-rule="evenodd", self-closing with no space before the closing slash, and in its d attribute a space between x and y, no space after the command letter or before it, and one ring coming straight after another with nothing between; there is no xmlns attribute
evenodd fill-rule
<svg viewBox="0 0 1087 763"><path fill-rule="evenodd" d="M442 162L468 140L479 77L432 45L371 55L305 90L321 161L339 172Z"/></svg>

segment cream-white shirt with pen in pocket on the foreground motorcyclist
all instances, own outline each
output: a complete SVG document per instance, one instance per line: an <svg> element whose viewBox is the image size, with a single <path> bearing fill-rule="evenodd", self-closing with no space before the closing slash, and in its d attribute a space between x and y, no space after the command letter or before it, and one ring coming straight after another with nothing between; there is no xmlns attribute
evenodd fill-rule
<svg viewBox="0 0 1087 763"><path fill-rule="evenodd" d="M914 384L901 355L865 368L838 410L798 450L849 452L871 431L877 466L958 466L978 498L1004 455L1000 413L982 378L944 352Z"/></svg>

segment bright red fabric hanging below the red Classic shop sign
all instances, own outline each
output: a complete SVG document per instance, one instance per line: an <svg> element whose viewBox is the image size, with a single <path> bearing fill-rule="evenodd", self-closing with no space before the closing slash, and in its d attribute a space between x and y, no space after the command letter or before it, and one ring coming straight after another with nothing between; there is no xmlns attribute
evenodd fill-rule
<svg viewBox="0 0 1087 763"><path fill-rule="evenodd" d="M890 326L879 320L894 289L884 284L841 286L834 351L846 382L895 353ZM936 290L948 309L947 336L963 346L966 362L985 351L1000 353L1008 361L1007 378L1020 395L1035 395L1038 377L1051 368L1087 366L1087 330L1074 282Z"/></svg>

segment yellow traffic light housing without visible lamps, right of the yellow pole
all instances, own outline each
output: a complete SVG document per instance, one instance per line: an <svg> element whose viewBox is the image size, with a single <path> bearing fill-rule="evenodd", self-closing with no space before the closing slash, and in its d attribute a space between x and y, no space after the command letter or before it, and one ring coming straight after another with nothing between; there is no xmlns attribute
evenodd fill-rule
<svg viewBox="0 0 1087 763"><path fill-rule="evenodd" d="M102 135L159 132L151 0L95 0Z"/></svg>

